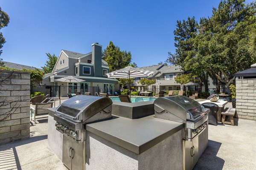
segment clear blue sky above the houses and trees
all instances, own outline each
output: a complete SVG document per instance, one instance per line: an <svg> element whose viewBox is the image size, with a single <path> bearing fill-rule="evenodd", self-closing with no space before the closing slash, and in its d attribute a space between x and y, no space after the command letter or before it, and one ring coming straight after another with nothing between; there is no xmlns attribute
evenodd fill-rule
<svg viewBox="0 0 256 170"><path fill-rule="evenodd" d="M175 52L176 21L207 17L219 0L1 0L10 17L0 58L41 68L45 53L86 54L109 41L131 51L139 67L164 62ZM246 1L247 2L247 1Z"/></svg>

